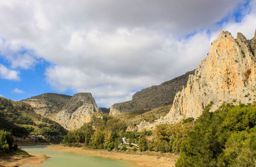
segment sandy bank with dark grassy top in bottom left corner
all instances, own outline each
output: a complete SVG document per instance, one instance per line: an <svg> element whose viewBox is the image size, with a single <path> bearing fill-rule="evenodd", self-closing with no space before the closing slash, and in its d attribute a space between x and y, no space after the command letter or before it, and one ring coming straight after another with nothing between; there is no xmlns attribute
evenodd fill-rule
<svg viewBox="0 0 256 167"><path fill-rule="evenodd" d="M48 159L46 155L28 154L23 150L13 152L12 154L3 154L0 157L0 167L11 166L39 166Z"/></svg>

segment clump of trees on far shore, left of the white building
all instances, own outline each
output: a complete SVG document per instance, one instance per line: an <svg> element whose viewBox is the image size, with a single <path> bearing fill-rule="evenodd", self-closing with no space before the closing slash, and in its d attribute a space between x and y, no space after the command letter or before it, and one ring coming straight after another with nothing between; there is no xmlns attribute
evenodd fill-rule
<svg viewBox="0 0 256 167"><path fill-rule="evenodd" d="M62 143L67 145L84 143L86 147L95 149L118 149L118 144L122 141L126 129L127 125L124 121L108 116L108 114L104 114L102 118L93 116L90 123L85 123L76 131L68 132Z"/></svg>

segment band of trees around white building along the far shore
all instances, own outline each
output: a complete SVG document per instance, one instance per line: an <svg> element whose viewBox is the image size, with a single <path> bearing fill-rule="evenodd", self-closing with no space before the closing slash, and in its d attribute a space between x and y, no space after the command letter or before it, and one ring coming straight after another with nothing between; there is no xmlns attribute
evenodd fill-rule
<svg viewBox="0 0 256 167"><path fill-rule="evenodd" d="M191 120L189 118L188 120ZM181 142L187 138L192 128L192 123L177 123L174 125L158 125L155 131L130 131L125 132L127 124L104 114L102 118L93 117L90 123L86 123L76 131L68 132L61 143L69 146L81 146L89 148L104 148L109 151L137 149L141 152L151 150L155 152L175 152L179 154ZM122 138L126 143L123 143Z"/></svg>

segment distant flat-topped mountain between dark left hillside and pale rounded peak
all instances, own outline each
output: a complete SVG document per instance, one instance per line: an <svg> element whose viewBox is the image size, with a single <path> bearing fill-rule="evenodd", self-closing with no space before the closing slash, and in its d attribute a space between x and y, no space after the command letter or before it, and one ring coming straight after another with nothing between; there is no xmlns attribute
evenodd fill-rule
<svg viewBox="0 0 256 167"><path fill-rule="evenodd" d="M32 106L35 113L50 118L51 120L55 120L57 113L70 99L71 96L68 95L44 93L42 95L21 100L21 102L25 102Z"/></svg>

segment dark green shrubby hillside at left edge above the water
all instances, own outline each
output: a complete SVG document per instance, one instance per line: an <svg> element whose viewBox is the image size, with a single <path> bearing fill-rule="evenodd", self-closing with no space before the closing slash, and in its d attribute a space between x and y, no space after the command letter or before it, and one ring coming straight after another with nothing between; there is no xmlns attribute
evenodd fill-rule
<svg viewBox="0 0 256 167"><path fill-rule="evenodd" d="M20 143L58 143L67 134L59 123L36 114L29 104L3 97L0 97L0 129L12 132Z"/></svg>

